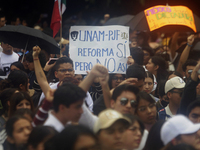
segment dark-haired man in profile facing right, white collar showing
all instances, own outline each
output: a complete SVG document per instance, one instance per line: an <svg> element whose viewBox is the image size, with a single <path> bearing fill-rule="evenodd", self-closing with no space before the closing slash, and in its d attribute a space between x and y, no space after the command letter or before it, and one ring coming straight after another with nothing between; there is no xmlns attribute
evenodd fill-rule
<svg viewBox="0 0 200 150"><path fill-rule="evenodd" d="M53 99L54 109L49 112L45 126L61 132L69 122L78 122L83 113L82 105L86 93L78 86L66 84L59 86L53 93L51 89L46 99Z"/></svg>

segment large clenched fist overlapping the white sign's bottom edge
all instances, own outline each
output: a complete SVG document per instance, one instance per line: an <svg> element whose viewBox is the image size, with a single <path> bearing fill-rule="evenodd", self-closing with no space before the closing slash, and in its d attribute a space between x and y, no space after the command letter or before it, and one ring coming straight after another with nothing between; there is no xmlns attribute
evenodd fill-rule
<svg viewBox="0 0 200 150"><path fill-rule="evenodd" d="M105 77L108 74L108 70L106 67L104 67L101 64L96 64L92 70L90 71L90 74L94 77Z"/></svg>

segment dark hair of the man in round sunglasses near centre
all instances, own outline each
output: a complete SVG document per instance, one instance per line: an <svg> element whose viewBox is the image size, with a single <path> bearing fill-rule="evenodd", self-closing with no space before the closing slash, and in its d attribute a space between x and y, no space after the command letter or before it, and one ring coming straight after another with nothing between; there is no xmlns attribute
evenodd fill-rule
<svg viewBox="0 0 200 150"><path fill-rule="evenodd" d="M113 94L112 94L112 99L114 101L116 101L117 97L120 96L121 93L124 92L124 91L132 92L136 95L136 98L138 97L139 89L136 86L123 84L123 85L120 85L120 86L115 88L115 90L113 91Z"/></svg>

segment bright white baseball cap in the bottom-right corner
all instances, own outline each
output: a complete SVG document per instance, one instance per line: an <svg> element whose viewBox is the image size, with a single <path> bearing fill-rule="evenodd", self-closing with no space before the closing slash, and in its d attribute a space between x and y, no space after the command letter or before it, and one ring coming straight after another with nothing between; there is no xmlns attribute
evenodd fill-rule
<svg viewBox="0 0 200 150"><path fill-rule="evenodd" d="M181 134L192 134L200 129L200 123L193 124L183 115L176 115L167 120L161 128L161 140L167 145Z"/></svg>

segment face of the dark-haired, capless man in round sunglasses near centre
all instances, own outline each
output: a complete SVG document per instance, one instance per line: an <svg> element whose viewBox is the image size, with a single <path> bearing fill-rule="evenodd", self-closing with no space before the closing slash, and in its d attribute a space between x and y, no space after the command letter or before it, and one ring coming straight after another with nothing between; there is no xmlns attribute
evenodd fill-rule
<svg viewBox="0 0 200 150"><path fill-rule="evenodd" d="M122 99L127 98L128 102L126 104L122 103ZM124 91L120 96L117 97L116 101L111 100L111 107L122 113L122 114L132 114L135 113L135 107L131 106L131 101L136 101L136 95L130 91Z"/></svg>

